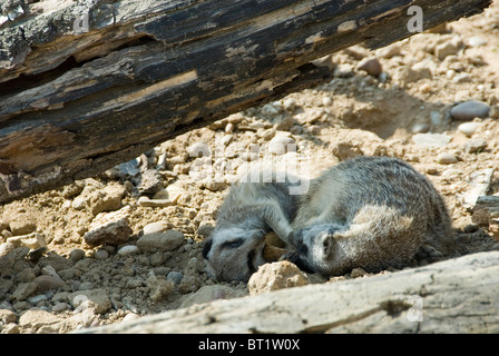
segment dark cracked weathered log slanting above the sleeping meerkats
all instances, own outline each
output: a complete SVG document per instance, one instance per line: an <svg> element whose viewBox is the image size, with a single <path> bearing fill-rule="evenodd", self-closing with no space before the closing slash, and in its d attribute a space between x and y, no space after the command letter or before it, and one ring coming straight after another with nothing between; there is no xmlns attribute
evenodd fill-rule
<svg viewBox="0 0 499 356"><path fill-rule="evenodd" d="M321 83L311 61L411 36L411 6L430 29L490 0L27 2L0 16L0 204Z"/></svg>

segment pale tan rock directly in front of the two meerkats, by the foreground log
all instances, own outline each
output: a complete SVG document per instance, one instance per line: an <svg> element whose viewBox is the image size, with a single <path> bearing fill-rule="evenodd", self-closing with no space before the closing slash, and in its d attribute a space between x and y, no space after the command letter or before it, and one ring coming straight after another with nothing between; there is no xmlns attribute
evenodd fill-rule
<svg viewBox="0 0 499 356"><path fill-rule="evenodd" d="M283 260L260 266L258 270L251 276L247 288L250 295L256 295L307 284L306 274L294 264Z"/></svg>

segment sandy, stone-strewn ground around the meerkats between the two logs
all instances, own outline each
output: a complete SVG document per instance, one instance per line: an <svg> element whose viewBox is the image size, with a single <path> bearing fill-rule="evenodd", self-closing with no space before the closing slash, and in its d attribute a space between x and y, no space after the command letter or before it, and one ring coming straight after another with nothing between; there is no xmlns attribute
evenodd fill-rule
<svg viewBox="0 0 499 356"><path fill-rule="evenodd" d="M67 333L273 286L369 277L358 268L322 280L282 264L262 269L250 288L211 279L203 240L251 161L313 178L358 155L402 158L444 196L457 255L498 249L497 227L474 224L471 208L477 195L499 195L499 1L436 31L376 51L355 46L322 63L335 66L326 85L0 207L0 332ZM423 250L408 268L450 257Z"/></svg>

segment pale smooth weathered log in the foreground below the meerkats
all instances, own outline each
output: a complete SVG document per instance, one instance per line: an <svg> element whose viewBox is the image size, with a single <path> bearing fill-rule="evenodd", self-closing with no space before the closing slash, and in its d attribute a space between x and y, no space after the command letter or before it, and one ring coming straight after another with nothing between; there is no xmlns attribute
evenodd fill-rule
<svg viewBox="0 0 499 356"><path fill-rule="evenodd" d="M498 333L499 251L217 300L79 333Z"/></svg>

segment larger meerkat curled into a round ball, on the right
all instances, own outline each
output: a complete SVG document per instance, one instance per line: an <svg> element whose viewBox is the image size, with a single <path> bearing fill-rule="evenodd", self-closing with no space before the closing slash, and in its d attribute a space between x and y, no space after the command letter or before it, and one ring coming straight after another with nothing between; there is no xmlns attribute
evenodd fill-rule
<svg viewBox="0 0 499 356"><path fill-rule="evenodd" d="M356 157L310 182L287 240L310 269L329 277L362 267L402 267L428 244L448 249L451 219L441 195L409 164Z"/></svg>

